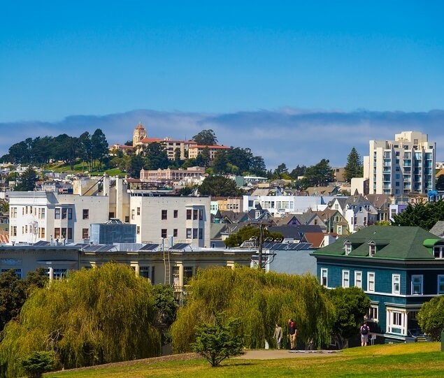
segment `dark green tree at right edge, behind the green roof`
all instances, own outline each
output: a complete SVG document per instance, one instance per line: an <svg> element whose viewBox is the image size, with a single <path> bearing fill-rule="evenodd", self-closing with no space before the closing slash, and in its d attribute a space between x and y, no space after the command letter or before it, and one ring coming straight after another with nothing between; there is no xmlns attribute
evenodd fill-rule
<svg viewBox="0 0 444 378"><path fill-rule="evenodd" d="M429 231L444 219L444 201L408 204L406 210L393 216L393 226L418 226Z"/></svg>

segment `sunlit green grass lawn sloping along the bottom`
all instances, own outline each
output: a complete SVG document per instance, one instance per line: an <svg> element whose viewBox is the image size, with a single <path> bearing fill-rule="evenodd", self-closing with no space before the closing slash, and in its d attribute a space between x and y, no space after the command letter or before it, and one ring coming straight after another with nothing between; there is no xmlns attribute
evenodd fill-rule
<svg viewBox="0 0 444 378"><path fill-rule="evenodd" d="M444 352L438 342L375 345L322 357L275 360L230 359L211 368L203 359L163 363L119 363L48 373L45 377L443 377Z"/></svg>

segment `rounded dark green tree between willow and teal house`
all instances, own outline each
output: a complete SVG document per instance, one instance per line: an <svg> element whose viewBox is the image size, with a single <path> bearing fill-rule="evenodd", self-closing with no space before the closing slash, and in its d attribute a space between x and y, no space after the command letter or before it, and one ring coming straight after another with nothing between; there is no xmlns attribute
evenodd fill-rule
<svg viewBox="0 0 444 378"><path fill-rule="evenodd" d="M348 343L348 338L359 333L359 326L364 321L364 315L370 307L370 299L364 291L357 287L337 287L327 290L329 298L334 303L336 319L334 323L334 340L339 349Z"/></svg>

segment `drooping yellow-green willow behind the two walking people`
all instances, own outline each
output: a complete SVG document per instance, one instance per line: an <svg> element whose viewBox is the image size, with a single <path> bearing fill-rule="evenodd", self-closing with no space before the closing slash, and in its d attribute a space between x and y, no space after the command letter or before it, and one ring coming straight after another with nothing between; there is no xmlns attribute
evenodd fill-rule
<svg viewBox="0 0 444 378"><path fill-rule="evenodd" d="M290 318L296 321L299 342L320 348L329 342L334 323L334 306L313 275L212 268L190 282L187 304L171 327L174 351L189 351L195 326L214 321L220 312L241 319L248 348L263 348L264 340L274 345L275 323L286 330Z"/></svg>

